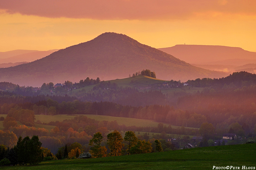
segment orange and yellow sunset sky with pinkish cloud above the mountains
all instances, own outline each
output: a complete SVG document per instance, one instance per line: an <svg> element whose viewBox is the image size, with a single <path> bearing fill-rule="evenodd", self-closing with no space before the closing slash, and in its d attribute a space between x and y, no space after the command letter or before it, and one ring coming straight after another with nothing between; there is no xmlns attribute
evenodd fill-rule
<svg viewBox="0 0 256 170"><path fill-rule="evenodd" d="M154 48L256 51L255 0L0 0L0 51L49 50L126 34Z"/></svg>

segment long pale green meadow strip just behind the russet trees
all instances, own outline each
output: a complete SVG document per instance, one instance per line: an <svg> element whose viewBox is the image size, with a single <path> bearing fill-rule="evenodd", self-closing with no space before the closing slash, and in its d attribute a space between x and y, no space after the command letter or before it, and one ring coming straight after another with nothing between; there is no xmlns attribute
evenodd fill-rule
<svg viewBox="0 0 256 170"><path fill-rule="evenodd" d="M60 121L62 122L65 119L72 119L75 116L68 116L68 115L35 115L36 116L36 121L40 120L41 122L51 122L51 121ZM84 115L87 116L91 119L95 119L97 121L115 121L122 125L124 124L125 126L141 126L141 127L146 127L146 126L151 126L151 127L156 127L159 122L154 122L151 120L146 120L146 119L134 119L134 118L126 118L126 117L114 117L114 116L105 116L105 115ZM169 126L169 124L164 123L165 126ZM172 126L172 128L177 128L178 126ZM196 128L194 128L196 129Z"/></svg>

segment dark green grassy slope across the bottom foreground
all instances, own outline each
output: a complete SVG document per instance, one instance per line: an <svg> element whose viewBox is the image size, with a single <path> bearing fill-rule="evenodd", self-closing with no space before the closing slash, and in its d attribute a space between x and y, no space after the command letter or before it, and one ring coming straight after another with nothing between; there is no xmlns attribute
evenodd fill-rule
<svg viewBox="0 0 256 170"><path fill-rule="evenodd" d="M5 166L0 169L212 169L256 167L256 144L213 146L169 152L126 155L118 157L71 159L42 162L36 166ZM232 168L233 169L233 168ZM238 169L238 168L237 168Z"/></svg>

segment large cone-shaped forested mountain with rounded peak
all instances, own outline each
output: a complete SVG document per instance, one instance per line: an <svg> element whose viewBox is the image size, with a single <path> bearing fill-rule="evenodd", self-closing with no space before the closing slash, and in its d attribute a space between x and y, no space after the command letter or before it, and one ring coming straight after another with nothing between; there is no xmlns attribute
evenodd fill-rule
<svg viewBox="0 0 256 170"><path fill-rule="evenodd" d="M148 68L157 78L186 81L223 77L224 73L192 66L156 48L117 33L103 33L95 39L61 49L37 61L0 69L0 81L40 86L44 82L77 82L84 77L101 80L125 78Z"/></svg>

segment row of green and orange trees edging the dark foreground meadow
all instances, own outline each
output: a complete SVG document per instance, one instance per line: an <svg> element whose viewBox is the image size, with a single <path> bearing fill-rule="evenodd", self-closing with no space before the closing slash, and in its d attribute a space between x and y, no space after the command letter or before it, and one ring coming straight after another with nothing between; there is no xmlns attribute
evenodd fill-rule
<svg viewBox="0 0 256 170"><path fill-rule="evenodd" d="M92 158L163 152L162 144L159 140L140 140L133 131L125 132L124 138L117 130L109 133L105 142L108 148L102 145L103 138L102 134L97 132L89 141L90 148L83 147L77 142L66 144L58 149L58 153L55 156L48 148L41 147L42 143L39 141L38 136L33 136L32 138L27 136L23 139L19 137L17 144L11 149L9 147L6 148L5 145L0 145L0 165L35 165L43 160L80 158L81 153L88 150ZM171 143L166 144L169 148L174 148Z"/></svg>

